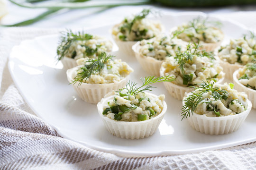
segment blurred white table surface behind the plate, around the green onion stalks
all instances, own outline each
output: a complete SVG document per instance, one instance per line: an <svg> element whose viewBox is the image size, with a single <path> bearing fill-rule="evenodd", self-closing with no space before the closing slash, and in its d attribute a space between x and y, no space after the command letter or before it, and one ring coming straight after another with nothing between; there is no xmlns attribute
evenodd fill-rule
<svg viewBox="0 0 256 170"><path fill-rule="evenodd" d="M46 11L46 9L21 8L9 1L7 1L7 8L9 14L2 18L0 24L14 24ZM256 6L229 6L221 8L168 8L153 5L121 6L109 8L103 11L101 10L104 8L73 9L69 11L63 9L58 11L57 14L47 17L46 19L30 26L41 28L81 28L111 25L118 23L125 16L140 12L143 8L155 8L164 14L183 11L202 11L220 17L225 17L227 19L236 20L252 29L256 26L256 20L254 19L254 16L256 16ZM101 12L96 13L97 11Z"/></svg>

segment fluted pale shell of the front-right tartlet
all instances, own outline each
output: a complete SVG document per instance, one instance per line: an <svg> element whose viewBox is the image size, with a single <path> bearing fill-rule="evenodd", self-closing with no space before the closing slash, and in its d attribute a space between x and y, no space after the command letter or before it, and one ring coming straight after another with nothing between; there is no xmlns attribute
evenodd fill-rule
<svg viewBox="0 0 256 170"><path fill-rule="evenodd" d="M186 96L190 95L188 93ZM185 97L184 97L185 99ZM183 105L184 105L183 99ZM207 117L194 112L193 115L187 117L190 126L201 133L210 135L223 135L235 132L242 125L252 109L252 103L247 100L247 110L236 115L223 117Z"/></svg>

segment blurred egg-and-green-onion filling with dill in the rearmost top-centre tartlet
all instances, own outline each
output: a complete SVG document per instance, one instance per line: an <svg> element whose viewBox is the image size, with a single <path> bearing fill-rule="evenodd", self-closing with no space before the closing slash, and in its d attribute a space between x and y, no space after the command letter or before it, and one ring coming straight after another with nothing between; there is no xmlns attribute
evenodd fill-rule
<svg viewBox="0 0 256 170"><path fill-rule="evenodd" d="M160 23L145 18L150 12L149 9L144 9L134 17L125 18L119 25L113 27L112 34L121 41L141 41L160 34Z"/></svg>

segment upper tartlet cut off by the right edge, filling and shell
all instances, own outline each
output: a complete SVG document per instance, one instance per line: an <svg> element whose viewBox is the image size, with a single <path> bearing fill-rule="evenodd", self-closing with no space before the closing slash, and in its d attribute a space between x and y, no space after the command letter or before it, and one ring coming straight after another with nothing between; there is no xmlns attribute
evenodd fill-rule
<svg viewBox="0 0 256 170"><path fill-rule="evenodd" d="M220 65L224 68L226 78L232 79L233 73L250 62L256 61L256 38L253 33L238 39L230 39L218 52Z"/></svg>

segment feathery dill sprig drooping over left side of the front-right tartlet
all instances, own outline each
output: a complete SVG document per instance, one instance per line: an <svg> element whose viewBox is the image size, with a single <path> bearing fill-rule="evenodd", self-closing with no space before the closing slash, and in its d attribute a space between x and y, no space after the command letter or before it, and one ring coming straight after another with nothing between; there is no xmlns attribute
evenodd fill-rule
<svg viewBox="0 0 256 170"><path fill-rule="evenodd" d="M190 114L194 113L194 110L196 110L198 104L202 101L202 95L204 93L211 92L211 96L214 98L214 100L219 100L223 95L228 96L228 92L225 89L219 90L219 87L213 87L214 82L209 83L202 82L199 84L199 87L194 87L196 92L192 92L191 95L187 96L183 102L184 105L182 107L182 120L190 116Z"/></svg>

